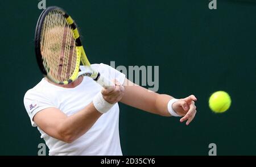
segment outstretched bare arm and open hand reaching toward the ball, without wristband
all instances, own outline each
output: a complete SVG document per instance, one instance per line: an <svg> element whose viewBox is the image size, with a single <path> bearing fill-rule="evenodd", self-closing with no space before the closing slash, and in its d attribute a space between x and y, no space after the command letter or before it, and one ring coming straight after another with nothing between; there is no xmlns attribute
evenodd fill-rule
<svg viewBox="0 0 256 167"><path fill-rule="evenodd" d="M167 107L168 102L173 98L170 95L152 92L144 87L135 85L135 83L127 80L127 78L123 86L125 87L125 92L120 102L153 114L171 116ZM178 115L183 116L180 122L187 120L186 124L188 125L195 118L196 100L194 95L190 95L173 103L172 108L174 111Z"/></svg>

